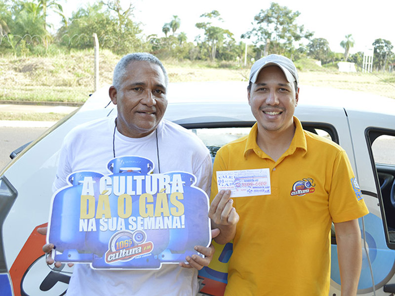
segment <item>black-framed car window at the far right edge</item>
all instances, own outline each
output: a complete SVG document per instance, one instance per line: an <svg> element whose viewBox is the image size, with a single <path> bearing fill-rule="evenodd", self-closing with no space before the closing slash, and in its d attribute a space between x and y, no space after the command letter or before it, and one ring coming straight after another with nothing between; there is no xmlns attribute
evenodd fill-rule
<svg viewBox="0 0 395 296"><path fill-rule="evenodd" d="M395 130L368 129L372 166L375 168L386 240L395 249Z"/></svg>

